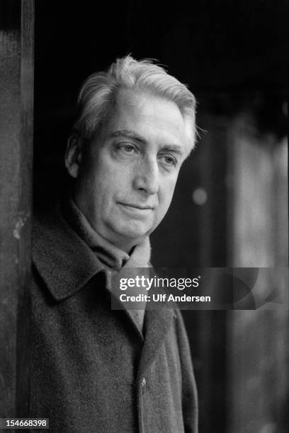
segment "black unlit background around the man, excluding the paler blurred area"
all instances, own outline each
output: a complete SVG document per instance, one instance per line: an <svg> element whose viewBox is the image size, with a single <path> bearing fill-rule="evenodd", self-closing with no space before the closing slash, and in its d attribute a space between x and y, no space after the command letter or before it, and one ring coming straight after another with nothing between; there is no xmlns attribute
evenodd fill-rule
<svg viewBox="0 0 289 433"><path fill-rule="evenodd" d="M247 110L260 135L286 132L285 0L35 1L35 206L67 186L64 149L82 81L132 53L151 57L198 100L200 139L152 236L156 267L227 265L227 138ZM192 200L196 187L208 201ZM226 432L226 313L183 312L200 395L200 433Z"/></svg>

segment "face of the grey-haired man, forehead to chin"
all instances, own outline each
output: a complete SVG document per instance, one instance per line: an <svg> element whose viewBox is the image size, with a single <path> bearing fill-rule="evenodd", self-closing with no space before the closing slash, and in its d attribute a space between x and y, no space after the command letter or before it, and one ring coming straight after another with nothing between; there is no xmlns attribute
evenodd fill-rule
<svg viewBox="0 0 289 433"><path fill-rule="evenodd" d="M169 209L187 146L175 103L121 89L110 120L81 151L74 200L103 238L129 251Z"/></svg>

